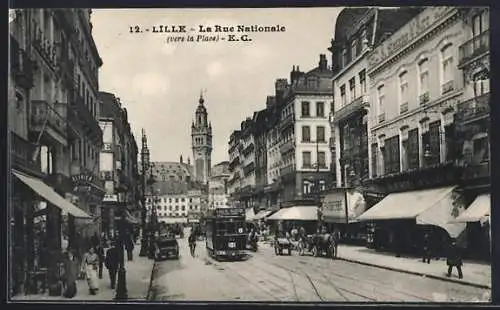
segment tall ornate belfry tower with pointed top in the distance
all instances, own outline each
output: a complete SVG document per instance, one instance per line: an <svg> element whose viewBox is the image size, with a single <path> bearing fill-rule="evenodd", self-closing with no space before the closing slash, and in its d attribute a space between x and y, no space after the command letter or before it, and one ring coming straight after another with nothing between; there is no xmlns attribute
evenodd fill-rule
<svg viewBox="0 0 500 310"><path fill-rule="evenodd" d="M212 167L212 124L208 121L207 109L203 105L203 94L200 94L198 102L195 120L191 125L191 145L195 179L206 184Z"/></svg>

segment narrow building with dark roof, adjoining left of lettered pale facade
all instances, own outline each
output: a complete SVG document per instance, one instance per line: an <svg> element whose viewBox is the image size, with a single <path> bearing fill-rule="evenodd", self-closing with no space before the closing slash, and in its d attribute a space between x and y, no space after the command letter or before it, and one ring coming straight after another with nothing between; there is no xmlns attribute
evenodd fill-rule
<svg viewBox="0 0 500 310"><path fill-rule="evenodd" d="M367 54L419 8L346 8L337 17L329 48L334 72L332 161L336 185L360 185L369 178Z"/></svg>

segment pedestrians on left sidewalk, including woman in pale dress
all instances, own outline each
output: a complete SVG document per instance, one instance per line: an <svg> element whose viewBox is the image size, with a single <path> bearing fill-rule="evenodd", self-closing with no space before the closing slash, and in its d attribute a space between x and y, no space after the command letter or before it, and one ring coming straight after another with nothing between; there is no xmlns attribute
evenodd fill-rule
<svg viewBox="0 0 500 310"><path fill-rule="evenodd" d="M133 260L134 240L125 240L127 260ZM120 265L120 250L117 240L99 238L97 234L90 238L90 243L82 249L79 246L70 246L64 253L63 259L63 296L73 298L77 293L76 282L86 280L91 295L99 292L99 279L103 277L106 267L109 274L111 289L115 288L116 275Z"/></svg>

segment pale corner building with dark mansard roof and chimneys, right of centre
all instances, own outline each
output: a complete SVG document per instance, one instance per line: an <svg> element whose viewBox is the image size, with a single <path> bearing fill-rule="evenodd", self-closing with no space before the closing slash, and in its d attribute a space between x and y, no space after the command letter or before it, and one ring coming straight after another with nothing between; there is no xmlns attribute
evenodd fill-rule
<svg viewBox="0 0 500 310"><path fill-rule="evenodd" d="M280 116L280 176L282 200L308 199L313 186L325 190L331 184L329 110L332 96L332 71L326 55L320 55L318 67L303 73L291 72L291 85Z"/></svg>

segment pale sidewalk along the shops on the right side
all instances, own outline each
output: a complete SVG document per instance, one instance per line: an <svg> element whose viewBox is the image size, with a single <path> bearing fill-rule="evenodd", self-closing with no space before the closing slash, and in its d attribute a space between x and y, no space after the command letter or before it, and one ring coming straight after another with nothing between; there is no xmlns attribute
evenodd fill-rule
<svg viewBox="0 0 500 310"><path fill-rule="evenodd" d="M338 251L338 258L349 262L491 289L491 265L486 263L464 261L464 277L459 279L455 268L451 277L446 276L448 267L443 258L426 264L422 258L396 257L394 253L376 252L362 246L339 245Z"/></svg>

